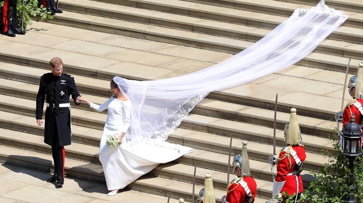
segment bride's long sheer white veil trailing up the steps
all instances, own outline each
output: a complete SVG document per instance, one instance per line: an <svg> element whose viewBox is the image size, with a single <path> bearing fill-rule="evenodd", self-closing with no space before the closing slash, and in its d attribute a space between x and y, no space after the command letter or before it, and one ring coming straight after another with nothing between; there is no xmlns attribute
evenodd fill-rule
<svg viewBox="0 0 363 203"><path fill-rule="evenodd" d="M251 82L306 57L348 18L324 3L296 9L254 45L201 71L152 81L114 77L121 89L128 89L125 95L132 102L126 139L165 141L209 92Z"/></svg>

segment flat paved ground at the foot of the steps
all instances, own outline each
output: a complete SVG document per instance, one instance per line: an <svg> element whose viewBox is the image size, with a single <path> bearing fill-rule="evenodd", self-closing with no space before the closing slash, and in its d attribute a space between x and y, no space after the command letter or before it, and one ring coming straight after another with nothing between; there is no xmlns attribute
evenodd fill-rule
<svg viewBox="0 0 363 203"><path fill-rule="evenodd" d="M163 203L167 198L125 190L114 197L107 197L104 184L65 178L65 185L57 188L47 183L47 173L8 164L0 164L1 203ZM170 199L171 203L179 201Z"/></svg>

